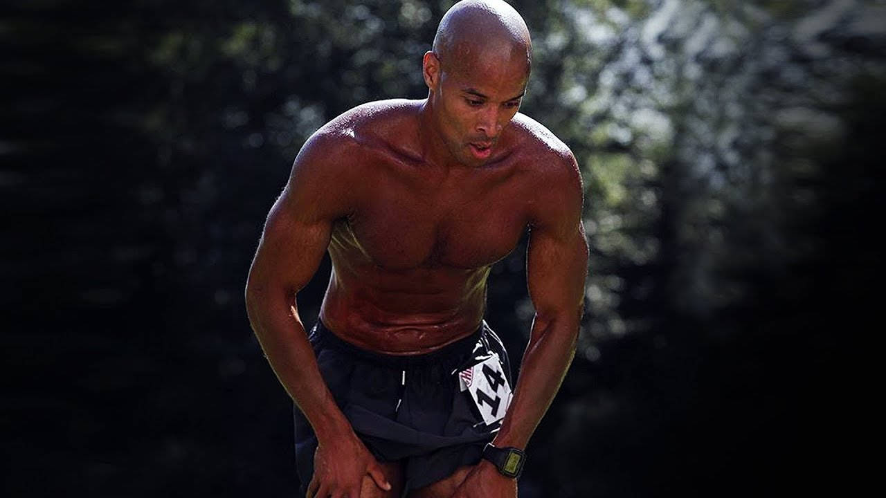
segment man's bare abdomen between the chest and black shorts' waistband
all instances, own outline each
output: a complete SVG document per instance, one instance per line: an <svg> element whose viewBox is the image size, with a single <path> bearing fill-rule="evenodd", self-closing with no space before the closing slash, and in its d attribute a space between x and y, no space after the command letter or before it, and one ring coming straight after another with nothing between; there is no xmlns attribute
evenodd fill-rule
<svg viewBox="0 0 886 498"><path fill-rule="evenodd" d="M352 267L353 268L353 267ZM382 354L427 354L477 331L485 268L336 268L320 317L339 338Z"/></svg>

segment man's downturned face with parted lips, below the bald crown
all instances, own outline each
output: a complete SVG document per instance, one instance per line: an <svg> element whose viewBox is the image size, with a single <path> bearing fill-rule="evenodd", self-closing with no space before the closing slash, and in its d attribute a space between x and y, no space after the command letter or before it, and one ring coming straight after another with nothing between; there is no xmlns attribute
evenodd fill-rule
<svg viewBox="0 0 886 498"><path fill-rule="evenodd" d="M479 166L520 107L529 78L525 54L477 54L471 60L439 60L431 86L439 131L455 160Z"/></svg>

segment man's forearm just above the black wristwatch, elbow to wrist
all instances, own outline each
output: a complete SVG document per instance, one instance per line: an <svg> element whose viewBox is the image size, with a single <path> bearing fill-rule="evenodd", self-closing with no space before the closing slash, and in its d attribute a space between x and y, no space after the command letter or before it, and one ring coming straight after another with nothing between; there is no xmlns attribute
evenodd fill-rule
<svg viewBox="0 0 886 498"><path fill-rule="evenodd" d="M536 316L514 398L493 441L495 446L526 447L560 389L575 355L578 334L577 318L560 317L546 322Z"/></svg>

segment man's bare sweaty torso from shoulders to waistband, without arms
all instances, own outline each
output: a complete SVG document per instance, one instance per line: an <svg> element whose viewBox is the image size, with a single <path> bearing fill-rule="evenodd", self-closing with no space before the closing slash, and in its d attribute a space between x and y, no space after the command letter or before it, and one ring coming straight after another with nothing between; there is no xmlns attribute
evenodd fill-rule
<svg viewBox="0 0 886 498"><path fill-rule="evenodd" d="M489 269L530 216L525 156L539 144L525 142L538 125L518 117L525 128L503 136L482 167L439 167L412 153L423 104L364 105L332 123L354 141L359 181L347 191L357 206L332 226L321 317L342 338L388 354L429 353L476 331Z"/></svg>

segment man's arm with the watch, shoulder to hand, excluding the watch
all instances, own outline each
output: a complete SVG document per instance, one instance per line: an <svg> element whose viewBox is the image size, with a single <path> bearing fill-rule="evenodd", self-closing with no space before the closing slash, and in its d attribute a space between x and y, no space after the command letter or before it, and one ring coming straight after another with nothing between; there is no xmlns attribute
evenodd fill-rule
<svg viewBox="0 0 886 498"><path fill-rule="evenodd" d="M587 239L581 225L582 188L571 152L536 184L542 198L532 214L527 255L535 319L508 413L493 444L524 449L563 382L575 355L587 275ZM480 461L454 498L516 498L513 479Z"/></svg>

